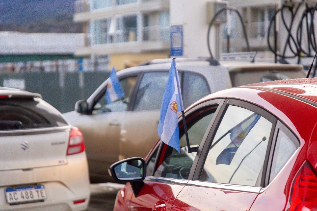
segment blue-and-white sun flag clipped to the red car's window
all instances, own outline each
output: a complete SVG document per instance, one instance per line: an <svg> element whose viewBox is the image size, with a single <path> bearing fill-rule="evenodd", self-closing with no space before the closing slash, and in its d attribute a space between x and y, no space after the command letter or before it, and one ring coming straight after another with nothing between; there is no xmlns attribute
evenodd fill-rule
<svg viewBox="0 0 317 211"><path fill-rule="evenodd" d="M178 111L184 111L184 105L174 58L172 59L170 73L163 94L158 134L165 144L179 152Z"/></svg>

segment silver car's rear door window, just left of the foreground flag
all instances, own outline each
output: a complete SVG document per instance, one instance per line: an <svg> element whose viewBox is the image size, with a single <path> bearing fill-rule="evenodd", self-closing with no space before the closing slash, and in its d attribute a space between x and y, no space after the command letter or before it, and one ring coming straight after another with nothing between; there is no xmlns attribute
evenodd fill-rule
<svg viewBox="0 0 317 211"><path fill-rule="evenodd" d="M152 72L143 75L133 107L134 111L160 109L168 72Z"/></svg>

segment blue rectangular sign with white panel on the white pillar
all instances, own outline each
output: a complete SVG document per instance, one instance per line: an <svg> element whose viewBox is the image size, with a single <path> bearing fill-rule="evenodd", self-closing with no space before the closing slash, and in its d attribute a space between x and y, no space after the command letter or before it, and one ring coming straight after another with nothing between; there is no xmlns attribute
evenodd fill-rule
<svg viewBox="0 0 317 211"><path fill-rule="evenodd" d="M171 56L183 55L183 25L171 26Z"/></svg>

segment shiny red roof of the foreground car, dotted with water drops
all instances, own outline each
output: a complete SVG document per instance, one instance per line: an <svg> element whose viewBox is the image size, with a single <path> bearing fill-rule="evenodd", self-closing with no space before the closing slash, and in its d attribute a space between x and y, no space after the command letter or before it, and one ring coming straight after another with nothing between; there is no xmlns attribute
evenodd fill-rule
<svg viewBox="0 0 317 211"><path fill-rule="evenodd" d="M317 103L317 78L273 80L244 86L267 88L275 92L281 91Z"/></svg>

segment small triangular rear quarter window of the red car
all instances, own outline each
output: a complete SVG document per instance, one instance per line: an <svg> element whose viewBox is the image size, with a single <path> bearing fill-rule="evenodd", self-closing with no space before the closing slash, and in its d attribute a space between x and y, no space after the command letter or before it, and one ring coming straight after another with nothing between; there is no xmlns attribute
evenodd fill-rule
<svg viewBox="0 0 317 211"><path fill-rule="evenodd" d="M286 135L286 133L288 135ZM290 131L287 131L286 133L281 129L278 130L269 182L275 178L288 159L299 147L298 139Z"/></svg>

